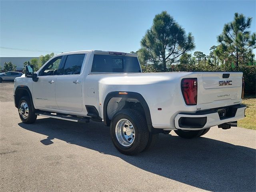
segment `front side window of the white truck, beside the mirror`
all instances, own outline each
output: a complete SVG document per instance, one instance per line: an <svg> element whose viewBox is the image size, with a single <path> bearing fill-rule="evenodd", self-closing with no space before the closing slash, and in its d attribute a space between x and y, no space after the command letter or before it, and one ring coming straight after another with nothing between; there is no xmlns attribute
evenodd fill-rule
<svg viewBox="0 0 256 192"><path fill-rule="evenodd" d="M48 64L41 70L40 76L57 75L61 59L62 56L50 60L50 62L48 62Z"/></svg>

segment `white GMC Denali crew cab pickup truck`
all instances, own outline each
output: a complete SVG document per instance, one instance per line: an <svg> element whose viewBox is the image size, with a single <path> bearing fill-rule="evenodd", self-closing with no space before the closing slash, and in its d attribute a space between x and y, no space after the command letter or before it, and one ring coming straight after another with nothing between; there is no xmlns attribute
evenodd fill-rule
<svg viewBox="0 0 256 192"><path fill-rule="evenodd" d="M110 126L114 146L132 155L150 148L158 133L195 138L210 127L228 129L244 118L242 72L142 73L134 53L58 54L14 81L22 122L37 116Z"/></svg>

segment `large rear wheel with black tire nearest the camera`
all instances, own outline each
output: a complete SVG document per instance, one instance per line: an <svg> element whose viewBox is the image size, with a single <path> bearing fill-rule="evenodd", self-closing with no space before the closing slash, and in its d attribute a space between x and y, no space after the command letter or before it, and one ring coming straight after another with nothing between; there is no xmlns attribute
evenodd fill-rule
<svg viewBox="0 0 256 192"><path fill-rule="evenodd" d="M146 120L133 109L118 111L110 124L110 136L116 149L125 155L142 152L149 140Z"/></svg>

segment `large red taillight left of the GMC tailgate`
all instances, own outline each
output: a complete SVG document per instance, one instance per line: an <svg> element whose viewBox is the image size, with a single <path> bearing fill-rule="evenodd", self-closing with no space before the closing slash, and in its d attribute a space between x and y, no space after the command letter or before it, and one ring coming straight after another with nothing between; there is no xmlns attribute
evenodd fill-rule
<svg viewBox="0 0 256 192"><path fill-rule="evenodd" d="M182 79L181 91L186 105L197 104L197 78Z"/></svg>

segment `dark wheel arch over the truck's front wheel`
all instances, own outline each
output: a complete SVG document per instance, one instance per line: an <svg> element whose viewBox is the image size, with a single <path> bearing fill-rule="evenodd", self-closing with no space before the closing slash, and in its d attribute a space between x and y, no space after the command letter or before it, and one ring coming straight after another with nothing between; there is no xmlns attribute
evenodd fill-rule
<svg viewBox="0 0 256 192"><path fill-rule="evenodd" d="M14 103L15 103L15 107L18 108L18 104L20 101L20 98L22 98L22 96L28 96L30 99L30 104L32 106L32 110L34 112L35 108L34 108L34 103L33 103L33 98L32 98L32 94L28 88L28 86L17 86L14 92Z"/></svg>

